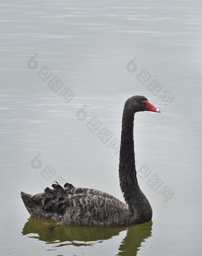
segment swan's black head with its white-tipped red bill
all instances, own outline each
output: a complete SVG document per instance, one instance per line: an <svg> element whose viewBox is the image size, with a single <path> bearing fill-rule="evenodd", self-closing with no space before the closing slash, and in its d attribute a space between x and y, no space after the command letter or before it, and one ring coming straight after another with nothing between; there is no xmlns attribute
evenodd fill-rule
<svg viewBox="0 0 202 256"><path fill-rule="evenodd" d="M146 97L140 95L135 95L127 99L125 107L127 107L127 109L132 113L136 113L138 111L153 111L160 113L159 108L154 107Z"/></svg>

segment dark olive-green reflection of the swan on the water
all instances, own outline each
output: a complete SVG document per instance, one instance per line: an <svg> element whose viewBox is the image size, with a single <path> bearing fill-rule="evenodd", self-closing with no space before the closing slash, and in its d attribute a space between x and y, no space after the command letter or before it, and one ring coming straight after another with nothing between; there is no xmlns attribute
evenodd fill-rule
<svg viewBox="0 0 202 256"><path fill-rule="evenodd" d="M96 243L118 236L120 232L127 231L125 238L119 245L118 255L137 255L141 243L152 236L152 220L127 227L85 227L85 226L59 226L49 229L46 221L30 217L23 227L23 235L36 238L53 247L59 246L92 246ZM37 234L37 235L36 235Z"/></svg>

